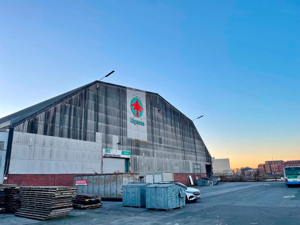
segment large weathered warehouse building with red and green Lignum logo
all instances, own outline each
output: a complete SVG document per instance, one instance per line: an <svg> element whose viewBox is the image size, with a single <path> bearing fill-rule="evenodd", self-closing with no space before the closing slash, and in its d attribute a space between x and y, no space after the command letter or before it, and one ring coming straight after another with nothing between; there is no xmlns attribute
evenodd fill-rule
<svg viewBox="0 0 300 225"><path fill-rule="evenodd" d="M183 183L212 175L192 120L157 93L94 81L0 119L0 183L161 170Z"/></svg>

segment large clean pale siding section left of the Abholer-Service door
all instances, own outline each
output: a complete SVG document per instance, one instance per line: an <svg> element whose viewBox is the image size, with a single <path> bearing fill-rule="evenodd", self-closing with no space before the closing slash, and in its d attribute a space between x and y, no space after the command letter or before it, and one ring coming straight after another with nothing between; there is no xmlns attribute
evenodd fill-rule
<svg viewBox="0 0 300 225"><path fill-rule="evenodd" d="M12 143L10 173L101 173L101 143L20 132Z"/></svg>

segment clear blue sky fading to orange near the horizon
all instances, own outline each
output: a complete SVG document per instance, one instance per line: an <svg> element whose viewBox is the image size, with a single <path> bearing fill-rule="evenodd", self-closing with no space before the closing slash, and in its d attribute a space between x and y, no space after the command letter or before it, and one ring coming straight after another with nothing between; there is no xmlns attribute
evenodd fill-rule
<svg viewBox="0 0 300 225"><path fill-rule="evenodd" d="M0 0L0 33L0 118L115 70L232 168L300 159L299 1Z"/></svg>

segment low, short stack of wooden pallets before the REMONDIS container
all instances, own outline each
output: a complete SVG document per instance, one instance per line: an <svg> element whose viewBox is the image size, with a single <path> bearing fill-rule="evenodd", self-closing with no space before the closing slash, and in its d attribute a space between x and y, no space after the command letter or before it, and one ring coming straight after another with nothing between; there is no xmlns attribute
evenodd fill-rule
<svg viewBox="0 0 300 225"><path fill-rule="evenodd" d="M80 209L92 209L103 206L101 197L93 194L77 194L73 199L73 207Z"/></svg>

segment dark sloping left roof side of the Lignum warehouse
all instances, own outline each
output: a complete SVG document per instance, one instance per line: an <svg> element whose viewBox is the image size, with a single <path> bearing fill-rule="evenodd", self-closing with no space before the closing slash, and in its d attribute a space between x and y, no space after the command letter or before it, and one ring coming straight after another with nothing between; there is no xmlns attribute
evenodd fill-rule
<svg viewBox="0 0 300 225"><path fill-rule="evenodd" d="M25 119L27 117L30 117L33 114L36 114L36 113L38 113L39 111L41 111L41 110L43 110L45 108L48 108L48 107L52 106L54 103L57 103L58 101L66 98L66 97L71 97L72 95L74 95L74 94L82 91L82 89L88 88L88 87L92 86L93 84L95 84L97 82L98 81L94 81L92 83L83 85L83 86L81 86L79 88L76 88L76 89L74 89L72 91L68 91L68 92L63 93L61 95L58 95L58 96L56 96L54 98L50 98L50 99L48 99L46 101L43 101L41 103L37 103L37 104L35 104L33 106L30 106L28 108L22 109L22 110L20 110L20 111L18 111L16 113L12 113L12 114L10 114L8 116L2 117L2 118L0 118L0 123L5 122L7 120L11 120L10 121L10 125L18 123L21 120L23 120L23 119Z"/></svg>

